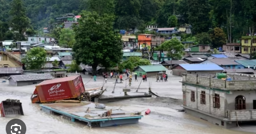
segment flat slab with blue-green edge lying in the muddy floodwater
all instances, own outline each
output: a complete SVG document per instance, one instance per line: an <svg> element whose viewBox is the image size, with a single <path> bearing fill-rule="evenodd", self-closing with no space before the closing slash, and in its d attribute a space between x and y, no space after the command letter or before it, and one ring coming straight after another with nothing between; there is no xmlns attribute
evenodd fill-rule
<svg viewBox="0 0 256 134"><path fill-rule="evenodd" d="M119 109L106 107L105 109L95 108L95 103L52 103L41 104L42 111L63 115L75 122L79 120L86 122L90 127L108 127L111 125L138 123L143 115L127 112ZM111 114L109 115L109 111ZM108 116L109 115L109 116Z"/></svg>

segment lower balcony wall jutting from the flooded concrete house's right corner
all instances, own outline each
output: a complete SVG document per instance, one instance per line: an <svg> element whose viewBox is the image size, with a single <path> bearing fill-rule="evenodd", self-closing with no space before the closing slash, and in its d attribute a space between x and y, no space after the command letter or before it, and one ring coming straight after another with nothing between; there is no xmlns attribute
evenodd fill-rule
<svg viewBox="0 0 256 134"><path fill-rule="evenodd" d="M256 110L227 110L226 118L230 121L256 121Z"/></svg>

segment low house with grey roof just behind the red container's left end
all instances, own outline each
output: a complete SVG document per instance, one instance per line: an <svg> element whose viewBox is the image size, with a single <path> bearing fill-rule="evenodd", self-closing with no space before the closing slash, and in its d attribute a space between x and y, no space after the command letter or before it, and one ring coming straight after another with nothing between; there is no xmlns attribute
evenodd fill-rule
<svg viewBox="0 0 256 134"><path fill-rule="evenodd" d="M11 86L27 86L41 83L47 79L53 79L54 77L51 74L23 74L10 76L8 78L9 85Z"/></svg>

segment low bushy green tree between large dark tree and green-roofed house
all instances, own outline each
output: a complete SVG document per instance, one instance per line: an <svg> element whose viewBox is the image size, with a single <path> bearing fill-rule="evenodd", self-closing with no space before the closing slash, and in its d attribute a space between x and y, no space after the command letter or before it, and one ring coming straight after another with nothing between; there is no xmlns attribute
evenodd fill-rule
<svg viewBox="0 0 256 134"><path fill-rule="evenodd" d="M126 61L123 61L120 65L118 65L118 70L119 72L122 72L123 69L133 70L135 67L142 65L151 65L151 63L147 59L131 56Z"/></svg>

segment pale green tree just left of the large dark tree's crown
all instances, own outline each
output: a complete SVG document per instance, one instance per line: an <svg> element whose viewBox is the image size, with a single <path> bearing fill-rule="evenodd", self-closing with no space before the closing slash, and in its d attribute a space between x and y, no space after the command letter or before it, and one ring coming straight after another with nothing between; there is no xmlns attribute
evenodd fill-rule
<svg viewBox="0 0 256 134"><path fill-rule="evenodd" d="M65 47L72 47L75 44L75 32L69 28L63 28L59 35L59 44Z"/></svg>

